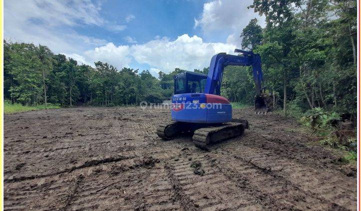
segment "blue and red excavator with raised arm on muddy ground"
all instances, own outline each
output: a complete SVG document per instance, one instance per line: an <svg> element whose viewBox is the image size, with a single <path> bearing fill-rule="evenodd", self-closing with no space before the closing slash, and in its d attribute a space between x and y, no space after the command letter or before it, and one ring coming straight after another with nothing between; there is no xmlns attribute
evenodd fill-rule
<svg viewBox="0 0 361 211"><path fill-rule="evenodd" d="M228 65L252 66L256 87L255 114L271 111L273 101L262 87L261 57L252 51L235 49L238 55L218 53L211 59L208 75L185 71L174 76L171 121L157 127L157 135L170 140L180 134L192 134L196 147L208 146L241 136L248 122L232 119L232 105L221 94L222 76Z"/></svg>

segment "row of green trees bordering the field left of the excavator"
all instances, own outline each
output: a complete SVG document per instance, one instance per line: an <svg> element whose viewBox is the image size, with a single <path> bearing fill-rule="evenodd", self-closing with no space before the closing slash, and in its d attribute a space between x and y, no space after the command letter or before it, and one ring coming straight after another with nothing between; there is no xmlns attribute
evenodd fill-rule
<svg viewBox="0 0 361 211"><path fill-rule="evenodd" d="M161 86L148 70L138 71L100 61L93 68L43 45L4 41L4 96L13 103L112 106L171 96L170 82Z"/></svg>

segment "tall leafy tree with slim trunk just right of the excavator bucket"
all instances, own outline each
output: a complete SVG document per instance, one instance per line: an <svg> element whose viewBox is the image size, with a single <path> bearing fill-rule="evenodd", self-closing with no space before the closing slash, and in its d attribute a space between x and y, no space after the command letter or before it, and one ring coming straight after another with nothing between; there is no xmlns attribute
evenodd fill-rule
<svg viewBox="0 0 361 211"><path fill-rule="evenodd" d="M250 6L255 12L266 16L265 46L258 48L257 52L263 54L263 60L265 57L270 57L266 59L269 60L268 66L276 64L278 68L283 70L284 116L287 115L286 104L289 72L294 69L294 55L291 54L292 41L295 39L294 29L296 21L294 20L294 11L296 7L300 7L300 4L300 0L254 0ZM265 62L263 61L263 63Z"/></svg>

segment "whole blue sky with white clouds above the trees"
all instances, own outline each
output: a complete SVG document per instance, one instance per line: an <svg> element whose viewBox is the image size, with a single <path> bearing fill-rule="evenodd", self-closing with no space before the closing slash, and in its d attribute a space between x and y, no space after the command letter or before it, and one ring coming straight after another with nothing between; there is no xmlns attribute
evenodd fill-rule
<svg viewBox="0 0 361 211"><path fill-rule="evenodd" d="M208 67L241 48L252 0L4 1L4 37L48 46L79 63L170 72Z"/></svg>

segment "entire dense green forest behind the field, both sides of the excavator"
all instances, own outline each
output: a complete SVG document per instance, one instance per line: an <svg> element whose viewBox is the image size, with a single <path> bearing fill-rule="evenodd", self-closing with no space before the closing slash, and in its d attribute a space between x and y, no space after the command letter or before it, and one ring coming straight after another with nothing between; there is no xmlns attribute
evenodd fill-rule
<svg viewBox="0 0 361 211"><path fill-rule="evenodd" d="M240 34L242 46L262 58L264 86L278 96L284 114L322 108L356 114L356 1L254 0L249 7L266 17L262 28L252 19ZM168 70L169 71L169 70ZM4 95L25 105L127 105L161 102L173 93L173 75L117 69L102 61L95 67L54 54L43 45L4 41ZM203 70L194 70L207 73ZM222 95L252 104L251 69L229 66Z"/></svg>

